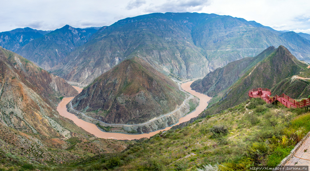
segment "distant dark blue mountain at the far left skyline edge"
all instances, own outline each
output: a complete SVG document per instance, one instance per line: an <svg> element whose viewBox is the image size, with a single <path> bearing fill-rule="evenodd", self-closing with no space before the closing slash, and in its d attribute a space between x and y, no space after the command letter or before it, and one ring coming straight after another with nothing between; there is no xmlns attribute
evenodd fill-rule
<svg viewBox="0 0 310 171"><path fill-rule="evenodd" d="M49 32L51 31L35 30L29 27L16 28L8 32L0 32L0 46L16 52L20 47Z"/></svg>

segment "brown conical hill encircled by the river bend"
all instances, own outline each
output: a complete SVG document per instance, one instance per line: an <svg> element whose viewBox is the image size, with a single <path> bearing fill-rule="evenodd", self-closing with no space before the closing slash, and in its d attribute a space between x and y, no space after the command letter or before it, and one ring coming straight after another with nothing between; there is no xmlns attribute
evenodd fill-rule
<svg viewBox="0 0 310 171"><path fill-rule="evenodd" d="M175 110L185 99L174 81L134 57L95 79L72 105L106 123L138 124Z"/></svg>

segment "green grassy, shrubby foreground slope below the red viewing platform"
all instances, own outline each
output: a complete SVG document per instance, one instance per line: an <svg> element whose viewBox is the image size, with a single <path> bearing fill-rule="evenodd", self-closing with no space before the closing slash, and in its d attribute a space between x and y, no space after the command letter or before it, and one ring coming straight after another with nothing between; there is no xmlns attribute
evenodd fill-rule
<svg viewBox="0 0 310 171"><path fill-rule="evenodd" d="M121 153L64 170L247 170L276 166L310 131L310 113L247 100L214 116L141 139ZM244 150L240 150L244 149ZM90 162L91 161L91 162Z"/></svg>

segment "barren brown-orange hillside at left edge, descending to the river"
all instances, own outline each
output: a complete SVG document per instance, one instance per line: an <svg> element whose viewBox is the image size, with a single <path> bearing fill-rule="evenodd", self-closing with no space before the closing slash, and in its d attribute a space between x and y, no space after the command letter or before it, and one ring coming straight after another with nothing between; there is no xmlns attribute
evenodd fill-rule
<svg viewBox="0 0 310 171"><path fill-rule="evenodd" d="M0 47L0 170L46 170L122 151L125 143L95 138L59 115L60 99L77 94L64 79Z"/></svg>

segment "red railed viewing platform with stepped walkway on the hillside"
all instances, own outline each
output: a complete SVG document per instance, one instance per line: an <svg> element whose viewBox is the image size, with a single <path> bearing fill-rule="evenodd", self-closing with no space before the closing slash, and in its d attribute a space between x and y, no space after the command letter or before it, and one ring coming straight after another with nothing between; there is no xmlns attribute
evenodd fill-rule
<svg viewBox="0 0 310 171"><path fill-rule="evenodd" d="M261 98L267 103L273 103L279 101L281 104L288 108L304 108L310 106L310 98L296 101L289 96L282 93L280 96L276 95L271 97L271 91L268 88L254 88L249 90L249 96L251 98Z"/></svg>

